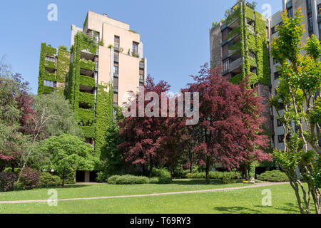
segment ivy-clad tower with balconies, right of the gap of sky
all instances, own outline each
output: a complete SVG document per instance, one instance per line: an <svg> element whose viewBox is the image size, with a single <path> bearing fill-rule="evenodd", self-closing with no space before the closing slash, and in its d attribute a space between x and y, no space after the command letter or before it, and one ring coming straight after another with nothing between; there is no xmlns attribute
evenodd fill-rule
<svg viewBox="0 0 321 228"><path fill-rule="evenodd" d="M265 16L246 1L238 1L227 11L227 18L210 28L210 64L221 67L222 76L240 83L250 75L251 86L258 86L266 105L265 133L272 135L270 99L269 29Z"/></svg>

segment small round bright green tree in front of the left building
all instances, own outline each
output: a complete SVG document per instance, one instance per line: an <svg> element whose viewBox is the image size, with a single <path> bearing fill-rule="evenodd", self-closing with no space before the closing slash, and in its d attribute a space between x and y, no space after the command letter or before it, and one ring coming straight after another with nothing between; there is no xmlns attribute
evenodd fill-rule
<svg viewBox="0 0 321 228"><path fill-rule="evenodd" d="M96 162L93 147L73 135L52 136L41 142L41 151L49 155L47 167L56 170L62 186L68 175L76 170L92 171Z"/></svg>

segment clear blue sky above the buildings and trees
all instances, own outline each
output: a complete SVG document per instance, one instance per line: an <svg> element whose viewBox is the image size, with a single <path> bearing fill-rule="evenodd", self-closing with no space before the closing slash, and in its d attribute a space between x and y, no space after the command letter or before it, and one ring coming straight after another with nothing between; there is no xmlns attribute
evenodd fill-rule
<svg viewBox="0 0 321 228"><path fill-rule="evenodd" d="M261 13L263 4L272 6L272 14L282 9L282 0L256 2ZM58 21L47 19L52 3L58 6ZM148 74L156 81L168 81L177 92L209 62L209 28L234 4L235 0L1 1L0 58L6 56L36 93L41 42L70 48L71 24L81 27L91 10L131 24L141 33Z"/></svg>

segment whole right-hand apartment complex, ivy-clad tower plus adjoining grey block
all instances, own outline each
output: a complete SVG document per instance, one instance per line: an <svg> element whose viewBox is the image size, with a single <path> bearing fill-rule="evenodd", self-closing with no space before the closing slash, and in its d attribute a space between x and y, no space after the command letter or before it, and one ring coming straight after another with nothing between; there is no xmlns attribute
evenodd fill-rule
<svg viewBox="0 0 321 228"><path fill-rule="evenodd" d="M233 83L238 83L245 75L252 74L254 78L251 82L257 83L266 104L271 95L276 94L275 88L280 81L278 63L270 57L270 43L277 37L277 26L282 22L283 10L287 9L289 16L293 17L295 11L301 7L306 28L302 41L306 42L312 34L321 40L321 0L282 0L282 6L283 9L264 19L258 12L253 11L251 4L238 1L238 4L228 10L227 19L213 24L210 28L211 66L221 67L222 75L230 78ZM266 40L263 38L264 33ZM267 51L260 53L260 48L265 49L265 46ZM277 120L275 108L267 106L263 115L266 118L265 128L271 133L271 147L282 150L284 130ZM294 123L293 128L296 128Z"/></svg>

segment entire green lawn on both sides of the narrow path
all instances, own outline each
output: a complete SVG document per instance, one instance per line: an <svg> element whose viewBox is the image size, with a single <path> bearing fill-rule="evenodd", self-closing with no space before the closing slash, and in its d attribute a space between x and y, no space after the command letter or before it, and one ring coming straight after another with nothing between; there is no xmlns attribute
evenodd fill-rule
<svg viewBox="0 0 321 228"><path fill-rule="evenodd" d="M204 185L203 180L176 180L171 185L75 185L58 189L58 198L99 197L137 195L188 190L206 190L222 187L246 186L242 183L230 185ZM262 191L272 191L272 207L261 204ZM47 190L6 192L0 201L19 199L48 199ZM0 204L0 213L164 213L164 214L220 214L220 213L299 213L294 192L290 185L275 185L245 190L206 192L157 197L91 199L58 202L58 207L46 203Z"/></svg>

